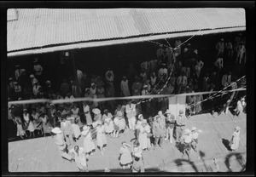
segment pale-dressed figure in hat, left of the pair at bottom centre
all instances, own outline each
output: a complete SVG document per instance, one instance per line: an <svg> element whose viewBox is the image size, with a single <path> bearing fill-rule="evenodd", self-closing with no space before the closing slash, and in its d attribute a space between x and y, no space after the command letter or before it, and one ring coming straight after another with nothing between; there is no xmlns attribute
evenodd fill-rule
<svg viewBox="0 0 256 177"><path fill-rule="evenodd" d="M125 141L122 142L122 146L119 150L120 154L120 164L125 169L126 167L131 168L132 158L131 151L129 150L130 145L128 145Z"/></svg>

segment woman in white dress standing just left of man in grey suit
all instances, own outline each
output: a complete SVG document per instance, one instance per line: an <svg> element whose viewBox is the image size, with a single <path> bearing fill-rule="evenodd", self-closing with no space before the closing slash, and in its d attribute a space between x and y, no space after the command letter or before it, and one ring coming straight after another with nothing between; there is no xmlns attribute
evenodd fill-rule
<svg viewBox="0 0 256 177"><path fill-rule="evenodd" d="M138 141L143 150L149 150L150 148L150 140L148 138L148 134L150 133L150 127L147 123L146 119L143 119L142 125L139 126L139 136Z"/></svg>

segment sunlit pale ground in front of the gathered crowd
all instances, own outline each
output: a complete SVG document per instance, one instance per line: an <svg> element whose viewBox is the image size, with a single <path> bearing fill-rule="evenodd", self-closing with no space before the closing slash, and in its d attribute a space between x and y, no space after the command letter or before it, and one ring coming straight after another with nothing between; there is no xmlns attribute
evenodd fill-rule
<svg viewBox="0 0 256 177"><path fill-rule="evenodd" d="M226 147L236 126L241 127L240 147L231 153ZM240 171L246 163L246 115L234 117L224 113L214 118L211 114L201 114L189 118L186 128L195 126L202 130L199 135L198 151L191 152L190 161L182 157L174 144L164 142L164 149L146 151L143 154L146 171L166 172L211 172ZM88 158L90 171L109 168L112 172L126 172L119 166L119 148L125 140L131 144L134 134L125 130L119 139L108 138L106 155L96 151ZM96 143L96 142L95 142ZM83 140L76 143L83 146ZM71 147L69 147L70 149ZM217 159L217 166L213 163ZM9 172L67 172L78 171L75 163L61 158L52 137L9 142Z"/></svg>

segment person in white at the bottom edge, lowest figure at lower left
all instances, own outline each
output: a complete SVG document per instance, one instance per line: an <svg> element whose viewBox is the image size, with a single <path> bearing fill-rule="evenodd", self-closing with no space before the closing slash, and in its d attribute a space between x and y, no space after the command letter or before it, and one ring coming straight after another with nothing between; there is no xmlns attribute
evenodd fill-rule
<svg viewBox="0 0 256 177"><path fill-rule="evenodd" d="M77 164L80 172L88 172L88 165L86 163L86 157L84 155L84 148L74 146L69 153L74 155L74 161Z"/></svg>

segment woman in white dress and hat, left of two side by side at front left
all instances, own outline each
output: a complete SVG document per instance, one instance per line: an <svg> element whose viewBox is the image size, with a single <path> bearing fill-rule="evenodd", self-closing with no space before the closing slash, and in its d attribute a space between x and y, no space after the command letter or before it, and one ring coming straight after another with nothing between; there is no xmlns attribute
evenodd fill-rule
<svg viewBox="0 0 256 177"><path fill-rule="evenodd" d="M86 157L89 157L89 155L93 155L93 151L96 150L94 142L92 141L92 138L91 138L90 127L85 124L81 134L84 137L84 152L85 152L85 155L86 155Z"/></svg>

